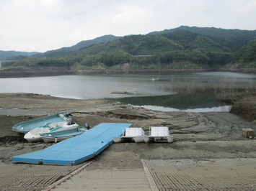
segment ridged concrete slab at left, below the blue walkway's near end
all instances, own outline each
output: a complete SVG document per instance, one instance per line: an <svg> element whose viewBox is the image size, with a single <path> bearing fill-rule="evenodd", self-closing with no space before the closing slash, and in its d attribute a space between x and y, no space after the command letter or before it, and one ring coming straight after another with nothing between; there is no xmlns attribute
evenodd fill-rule
<svg viewBox="0 0 256 191"><path fill-rule="evenodd" d="M43 190L82 166L2 164L0 190Z"/></svg>

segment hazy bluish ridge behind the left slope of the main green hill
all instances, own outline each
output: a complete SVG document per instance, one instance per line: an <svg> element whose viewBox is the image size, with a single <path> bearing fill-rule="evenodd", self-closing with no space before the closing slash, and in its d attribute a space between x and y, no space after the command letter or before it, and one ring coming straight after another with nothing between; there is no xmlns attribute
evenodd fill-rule
<svg viewBox="0 0 256 191"><path fill-rule="evenodd" d="M104 35L102 37L97 37L95 39L89 39L89 40L83 40L79 43L77 43L74 46L71 47L62 47L58 50L49 50L44 53L36 54L33 55L32 57L37 57L37 58L58 58L58 57L63 57L63 56L68 56L71 55L73 52L80 50L84 47L89 47L91 45L98 45L101 43L105 42L112 42L115 39L119 39L120 37L115 37L112 34L109 35Z"/></svg>

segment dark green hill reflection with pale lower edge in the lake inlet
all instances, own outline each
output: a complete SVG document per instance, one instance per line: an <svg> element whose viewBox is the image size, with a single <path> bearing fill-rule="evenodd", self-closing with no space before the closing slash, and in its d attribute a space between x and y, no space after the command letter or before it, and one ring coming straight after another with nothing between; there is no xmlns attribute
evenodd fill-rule
<svg viewBox="0 0 256 191"><path fill-rule="evenodd" d="M193 95L159 95L133 98L115 98L113 101L128 103L133 106L143 106L158 111L230 111L227 103L218 101L213 92L200 92Z"/></svg>

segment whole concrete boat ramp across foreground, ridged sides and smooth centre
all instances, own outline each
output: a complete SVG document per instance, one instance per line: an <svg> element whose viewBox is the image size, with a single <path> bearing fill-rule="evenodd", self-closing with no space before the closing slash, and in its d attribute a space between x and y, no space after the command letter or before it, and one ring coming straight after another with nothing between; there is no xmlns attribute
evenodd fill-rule
<svg viewBox="0 0 256 191"><path fill-rule="evenodd" d="M142 159L144 169L87 169L91 162L2 164L0 190L256 190L254 158Z"/></svg>

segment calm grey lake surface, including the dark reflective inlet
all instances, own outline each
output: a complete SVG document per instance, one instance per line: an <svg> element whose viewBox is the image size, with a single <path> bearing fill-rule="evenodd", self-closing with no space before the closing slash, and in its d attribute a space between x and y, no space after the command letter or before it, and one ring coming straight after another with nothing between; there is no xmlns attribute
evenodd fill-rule
<svg viewBox="0 0 256 191"><path fill-rule="evenodd" d="M177 95L172 80L223 82L231 80L242 87L256 83L256 75L208 72L173 74L61 75L33 78L0 78L0 93L40 93L63 98L104 98L159 111L229 111L213 93ZM111 93L127 90L127 93Z"/></svg>

